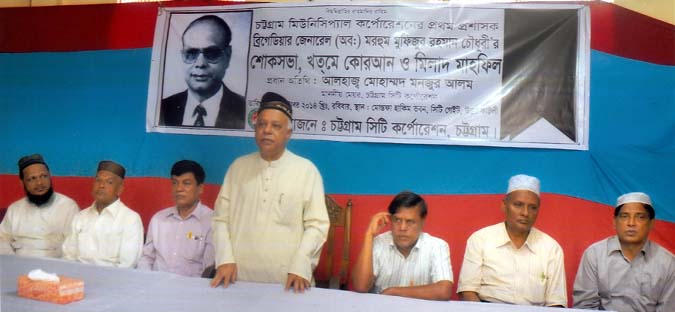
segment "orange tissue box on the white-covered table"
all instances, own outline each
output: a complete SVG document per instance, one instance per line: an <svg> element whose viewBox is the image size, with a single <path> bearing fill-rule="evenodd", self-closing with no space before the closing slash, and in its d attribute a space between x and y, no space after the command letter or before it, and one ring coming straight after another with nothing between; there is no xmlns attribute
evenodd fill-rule
<svg viewBox="0 0 675 312"><path fill-rule="evenodd" d="M21 297L59 304L84 298L84 281L59 276L59 282L34 281L27 275L19 276L18 294Z"/></svg>

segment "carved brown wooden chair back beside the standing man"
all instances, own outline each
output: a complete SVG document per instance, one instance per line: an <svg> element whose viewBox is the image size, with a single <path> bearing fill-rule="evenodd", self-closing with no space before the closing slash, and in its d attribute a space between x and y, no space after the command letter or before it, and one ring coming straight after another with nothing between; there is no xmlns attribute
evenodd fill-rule
<svg viewBox="0 0 675 312"><path fill-rule="evenodd" d="M351 229L352 201L347 200L345 207L340 207L333 198L326 195L326 209L330 219L328 239L326 245L326 275L328 280L316 279L317 287L332 289L347 289L347 271L349 270L349 241ZM342 237L335 237L335 228L342 227ZM342 240L342 255L340 257L340 269L334 274L333 259L335 257L335 241Z"/></svg>

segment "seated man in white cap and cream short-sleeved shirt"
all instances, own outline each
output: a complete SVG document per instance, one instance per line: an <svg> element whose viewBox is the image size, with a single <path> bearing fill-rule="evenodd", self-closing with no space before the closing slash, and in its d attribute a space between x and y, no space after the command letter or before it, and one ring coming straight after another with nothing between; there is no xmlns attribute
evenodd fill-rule
<svg viewBox="0 0 675 312"><path fill-rule="evenodd" d="M539 205L539 179L511 177L502 201L506 220L476 231L466 243L460 299L567 306L563 251L534 227Z"/></svg>

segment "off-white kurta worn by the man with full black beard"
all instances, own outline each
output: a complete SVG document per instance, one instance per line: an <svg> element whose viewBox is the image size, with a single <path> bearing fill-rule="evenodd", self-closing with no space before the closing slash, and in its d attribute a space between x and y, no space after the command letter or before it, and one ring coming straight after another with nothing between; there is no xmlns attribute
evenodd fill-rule
<svg viewBox="0 0 675 312"><path fill-rule="evenodd" d="M60 258L78 211L75 201L56 192L42 207L27 197L15 201L0 223L0 254Z"/></svg>

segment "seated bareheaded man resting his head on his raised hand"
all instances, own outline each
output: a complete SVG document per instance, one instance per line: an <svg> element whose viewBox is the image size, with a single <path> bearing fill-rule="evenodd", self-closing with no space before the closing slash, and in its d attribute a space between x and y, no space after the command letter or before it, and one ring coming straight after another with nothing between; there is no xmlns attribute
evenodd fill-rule
<svg viewBox="0 0 675 312"><path fill-rule="evenodd" d="M354 290L450 300L450 249L442 239L422 232L426 216L426 202L411 192L399 193L389 212L373 216L352 273ZM389 223L391 231L377 235Z"/></svg>

